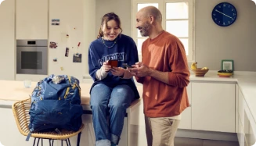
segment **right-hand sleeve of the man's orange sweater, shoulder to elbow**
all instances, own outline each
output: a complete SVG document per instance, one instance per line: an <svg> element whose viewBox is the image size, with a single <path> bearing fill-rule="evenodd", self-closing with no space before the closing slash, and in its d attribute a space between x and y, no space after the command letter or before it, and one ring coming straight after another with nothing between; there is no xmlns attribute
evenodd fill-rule
<svg viewBox="0 0 256 146"><path fill-rule="evenodd" d="M186 87L189 84L189 67L186 52L182 42L178 40L171 44L169 52L171 72L168 73L169 84L178 87Z"/></svg>

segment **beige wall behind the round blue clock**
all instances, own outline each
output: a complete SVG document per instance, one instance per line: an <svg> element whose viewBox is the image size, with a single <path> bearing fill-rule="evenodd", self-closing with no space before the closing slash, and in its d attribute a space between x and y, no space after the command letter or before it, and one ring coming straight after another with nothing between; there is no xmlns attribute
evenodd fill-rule
<svg viewBox="0 0 256 146"><path fill-rule="evenodd" d="M218 27L212 9L222 0L196 0L196 62L221 69L222 59L233 59L236 71L256 71L256 2L225 0L236 7L237 19L229 27Z"/></svg>

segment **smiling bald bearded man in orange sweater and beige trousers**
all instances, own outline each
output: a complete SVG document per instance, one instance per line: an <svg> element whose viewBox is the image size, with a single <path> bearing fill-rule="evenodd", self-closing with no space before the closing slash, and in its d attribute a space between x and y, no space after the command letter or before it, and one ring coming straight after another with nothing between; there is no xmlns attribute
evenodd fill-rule
<svg viewBox="0 0 256 146"><path fill-rule="evenodd" d="M182 42L163 30L162 15L153 7L136 14L143 37L142 62L130 68L143 84L143 104L148 146L173 146L181 113L189 106L186 86L189 68Z"/></svg>

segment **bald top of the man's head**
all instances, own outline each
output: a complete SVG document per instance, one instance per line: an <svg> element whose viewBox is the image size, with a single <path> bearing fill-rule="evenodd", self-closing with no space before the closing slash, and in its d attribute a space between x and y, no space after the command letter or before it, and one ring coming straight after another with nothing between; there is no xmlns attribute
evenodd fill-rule
<svg viewBox="0 0 256 146"><path fill-rule="evenodd" d="M158 23L162 22L162 14L159 9L154 6L146 6L140 9L139 13L141 13L144 17L153 16Z"/></svg>

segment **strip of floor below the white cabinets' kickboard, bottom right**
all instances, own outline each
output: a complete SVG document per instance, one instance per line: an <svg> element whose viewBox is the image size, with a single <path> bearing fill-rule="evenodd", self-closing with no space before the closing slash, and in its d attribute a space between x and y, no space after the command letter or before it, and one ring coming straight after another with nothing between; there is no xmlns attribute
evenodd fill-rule
<svg viewBox="0 0 256 146"><path fill-rule="evenodd" d="M237 141L213 141L175 137L175 146L239 146L239 144Z"/></svg>

